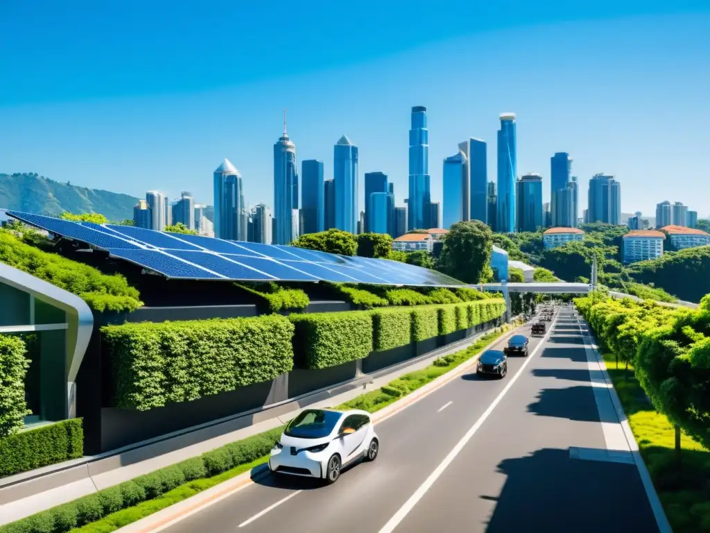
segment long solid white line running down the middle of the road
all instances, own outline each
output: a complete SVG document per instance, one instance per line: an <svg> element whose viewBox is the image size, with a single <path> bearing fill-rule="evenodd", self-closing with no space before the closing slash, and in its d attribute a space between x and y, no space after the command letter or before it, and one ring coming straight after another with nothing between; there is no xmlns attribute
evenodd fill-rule
<svg viewBox="0 0 710 533"><path fill-rule="evenodd" d="M429 475L429 477L425 480L424 483L416 490L416 492L410 496L409 500L407 500L402 507L395 513L395 515L387 522L382 529L380 529L380 533L392 533L395 528L402 522L403 519L409 514L409 512L414 508L415 505L417 505L417 502L422 499L422 497L427 493L427 490L432 488L432 485L434 485L435 481L439 478L442 473L444 473L444 470L447 469L447 467L453 463L454 459L461 453L461 450L464 449L464 446L471 440L471 438L476 434L476 431L479 431L479 428L484 424L488 416L491 416L491 413L493 412L493 409L496 409L498 404L501 403L503 400L503 397L508 394L508 391L510 390L511 387L513 387L513 384L518 380L518 377L523 374L523 370L530 365L530 361L532 361L532 358L535 357L537 352L542 348L542 346L545 345L545 342L547 342L547 339L550 338L550 333L552 333L552 326L557 323L557 315L555 316L554 321L552 321L552 324L550 324L550 329L547 330L547 333L545 333L545 337L542 338L542 342L538 344L535 347L535 350L532 350L532 353L528 356L527 359L525 359L525 362L523 362L523 365L518 369L518 372L515 373L513 377L511 377L508 380L508 384L506 384L506 387L503 388L503 390L498 394L496 399L491 402L491 405L488 406L488 409L484 411L484 414L481 414L481 418L479 418L476 421L476 424L471 426L471 429L469 431L466 431L466 434L461 438L461 440L457 443L456 446L454 446L454 449L449 452L449 455L447 455L444 458L444 461L439 463L439 466L435 468L435 470Z"/></svg>

